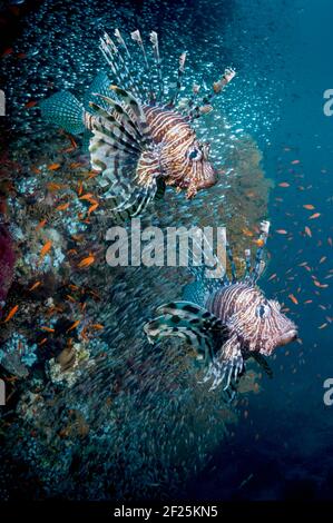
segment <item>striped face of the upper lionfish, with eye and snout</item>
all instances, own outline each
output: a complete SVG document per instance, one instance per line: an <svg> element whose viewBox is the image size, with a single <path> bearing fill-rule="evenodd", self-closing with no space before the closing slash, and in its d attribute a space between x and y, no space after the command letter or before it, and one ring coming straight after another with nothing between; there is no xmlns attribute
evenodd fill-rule
<svg viewBox="0 0 333 523"><path fill-rule="evenodd" d="M208 189L217 181L217 171L209 161L209 142L196 140L187 149L189 185L187 196L190 198L200 189Z"/></svg>

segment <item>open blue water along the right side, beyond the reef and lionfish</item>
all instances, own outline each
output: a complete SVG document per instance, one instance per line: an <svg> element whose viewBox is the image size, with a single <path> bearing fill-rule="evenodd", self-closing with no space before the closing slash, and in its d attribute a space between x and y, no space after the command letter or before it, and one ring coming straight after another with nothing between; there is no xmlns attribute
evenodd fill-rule
<svg viewBox="0 0 333 523"><path fill-rule="evenodd" d="M267 82L256 85L258 98L265 99L267 85L277 86L271 102L278 106L278 119L258 139L268 141L266 147L263 144L266 174L276 185L290 184L276 186L270 203L273 231L286 229L288 235L274 234L270 240L272 260L264 288L283 297L291 308L302 345L276 352L275 378L266 378L264 393L248 398L248 417L237 426L234 438L222 444L210 463L216 468L194 482L193 493L209 497L214 492L227 499L331 499L333 409L323 403L323 382L333 375L332 326L326 319L332 315L332 290L331 280L324 279L332 268L327 238L332 236L333 118L323 114L323 92L333 81L333 6L308 0L235 2L234 7L235 61L239 60L245 76L257 70L259 77L267 77ZM293 160L300 162L293 165ZM315 210L304 209L304 204L314 205ZM308 220L315 211L320 218ZM306 225L312 238L303 234ZM327 259L319 265L324 256ZM303 262L311 273L298 266ZM280 279L267 282L274 273ZM312 275L329 287L315 287ZM287 298L291 293L298 305ZM313 302L304 305L308 299ZM325 323L327 327L319 329Z"/></svg>

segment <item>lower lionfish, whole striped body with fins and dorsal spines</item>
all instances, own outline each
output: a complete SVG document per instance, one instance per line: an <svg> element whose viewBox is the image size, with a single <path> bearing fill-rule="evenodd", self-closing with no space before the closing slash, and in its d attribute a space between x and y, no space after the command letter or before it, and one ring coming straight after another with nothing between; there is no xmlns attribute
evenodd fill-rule
<svg viewBox="0 0 333 523"><path fill-rule="evenodd" d="M196 280L185 287L185 300L161 305L157 309L160 316L144 326L150 343L178 336L196 348L198 358L207 365L203 381L213 382L210 389L222 384L224 391L236 391L245 372L244 362L249 357L272 377L265 356L297 338L296 325L281 312L278 302L267 299L256 285L268 230L270 223L262 221L255 263L252 264L251 250L246 249L245 273L241 278L226 241L231 279L226 270L215 279L196 268Z"/></svg>

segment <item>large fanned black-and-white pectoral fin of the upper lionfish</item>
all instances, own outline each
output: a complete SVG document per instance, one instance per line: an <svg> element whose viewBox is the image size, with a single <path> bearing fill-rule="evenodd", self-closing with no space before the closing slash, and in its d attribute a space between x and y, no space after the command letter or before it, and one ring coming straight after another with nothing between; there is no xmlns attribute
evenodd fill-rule
<svg viewBox="0 0 333 523"><path fill-rule="evenodd" d="M117 99L96 93L97 101L89 103L96 116L89 147L91 164L101 170L98 181L104 197L112 199L111 210L138 216L157 193L158 159L139 101L124 89L111 88Z"/></svg>

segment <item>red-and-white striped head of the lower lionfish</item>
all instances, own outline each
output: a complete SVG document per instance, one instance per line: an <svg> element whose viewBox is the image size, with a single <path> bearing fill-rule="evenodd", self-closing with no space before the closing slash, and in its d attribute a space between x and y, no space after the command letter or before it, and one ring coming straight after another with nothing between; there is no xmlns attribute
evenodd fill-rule
<svg viewBox="0 0 333 523"><path fill-rule="evenodd" d="M276 347L287 345L297 338L297 327L275 299L267 299L259 289L247 294L249 298L244 310L238 310L234 325L247 349L270 356Z"/></svg>

